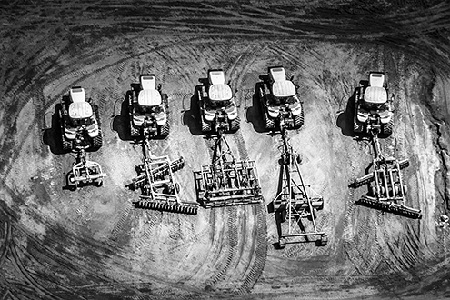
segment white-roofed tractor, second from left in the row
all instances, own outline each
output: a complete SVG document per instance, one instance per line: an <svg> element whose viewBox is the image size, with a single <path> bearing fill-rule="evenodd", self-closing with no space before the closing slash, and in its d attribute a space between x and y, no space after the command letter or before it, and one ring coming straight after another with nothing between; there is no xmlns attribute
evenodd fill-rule
<svg viewBox="0 0 450 300"><path fill-rule="evenodd" d="M169 135L168 97L156 87L155 75L140 75L139 85L132 84L128 94L130 135L165 137Z"/></svg>

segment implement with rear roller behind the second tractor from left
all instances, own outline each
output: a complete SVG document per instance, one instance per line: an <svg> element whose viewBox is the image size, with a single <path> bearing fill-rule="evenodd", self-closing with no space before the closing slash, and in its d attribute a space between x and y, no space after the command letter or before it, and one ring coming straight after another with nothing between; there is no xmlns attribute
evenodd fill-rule
<svg viewBox="0 0 450 300"><path fill-rule="evenodd" d="M195 215L198 205L182 202L179 185L174 182L173 173L185 166L183 157L170 162L166 155L151 155L147 139L143 141L143 147L143 164L137 165L139 175L130 184L133 190L141 189L142 192L135 207Z"/></svg>

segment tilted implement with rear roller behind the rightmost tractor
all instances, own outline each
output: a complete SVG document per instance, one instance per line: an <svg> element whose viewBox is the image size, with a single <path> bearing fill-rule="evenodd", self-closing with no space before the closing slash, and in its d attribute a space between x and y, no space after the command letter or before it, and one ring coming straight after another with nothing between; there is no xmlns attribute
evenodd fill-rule
<svg viewBox="0 0 450 300"><path fill-rule="evenodd" d="M378 141L378 132L371 131L372 142L375 148L375 158L373 162L374 170L355 179L353 187L369 185L369 193L356 203L374 207L396 215L405 215L411 218L422 218L420 209L415 209L405 205L407 185L404 184L401 170L409 165L407 159L398 161L395 157L385 157L381 153L381 146Z"/></svg>

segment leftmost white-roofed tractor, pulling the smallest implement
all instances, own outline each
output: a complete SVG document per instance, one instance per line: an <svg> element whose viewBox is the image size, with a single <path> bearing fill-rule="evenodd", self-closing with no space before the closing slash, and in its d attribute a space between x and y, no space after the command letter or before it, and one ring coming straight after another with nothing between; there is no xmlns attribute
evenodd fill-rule
<svg viewBox="0 0 450 300"><path fill-rule="evenodd" d="M61 100L59 109L63 150L98 150L103 145L98 107L86 101L85 89L74 86Z"/></svg>

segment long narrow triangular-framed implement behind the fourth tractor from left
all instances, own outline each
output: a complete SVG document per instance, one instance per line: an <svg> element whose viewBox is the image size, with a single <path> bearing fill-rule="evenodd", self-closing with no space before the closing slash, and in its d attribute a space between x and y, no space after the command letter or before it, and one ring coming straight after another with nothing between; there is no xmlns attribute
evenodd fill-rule
<svg viewBox="0 0 450 300"><path fill-rule="evenodd" d="M324 199L311 186L305 185L300 173L300 155L295 153L289 143L287 131L283 128L281 135L283 141L283 145L280 146L282 183L274 199L279 247L284 248L285 244L312 241L315 241L316 245L326 245L328 237L325 232L317 229L315 223L317 211L324 208ZM302 222L305 218L312 224L310 230ZM303 239L300 239L302 237Z"/></svg>

